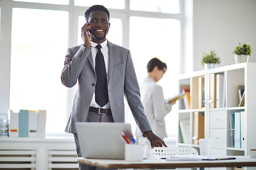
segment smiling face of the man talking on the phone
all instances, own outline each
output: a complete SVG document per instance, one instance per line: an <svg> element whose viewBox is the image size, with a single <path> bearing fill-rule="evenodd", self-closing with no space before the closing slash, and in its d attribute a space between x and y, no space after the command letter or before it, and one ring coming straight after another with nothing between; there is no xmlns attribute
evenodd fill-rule
<svg viewBox="0 0 256 170"><path fill-rule="evenodd" d="M98 44L104 42L110 28L108 15L103 11L93 11L90 13L88 22L89 25L92 26L89 30L91 41Z"/></svg>

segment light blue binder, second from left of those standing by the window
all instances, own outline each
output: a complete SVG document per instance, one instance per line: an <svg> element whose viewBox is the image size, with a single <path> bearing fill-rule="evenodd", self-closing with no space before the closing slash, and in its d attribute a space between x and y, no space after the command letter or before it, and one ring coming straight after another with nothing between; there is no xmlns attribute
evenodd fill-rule
<svg viewBox="0 0 256 170"><path fill-rule="evenodd" d="M29 111L19 110L19 137L29 136Z"/></svg>

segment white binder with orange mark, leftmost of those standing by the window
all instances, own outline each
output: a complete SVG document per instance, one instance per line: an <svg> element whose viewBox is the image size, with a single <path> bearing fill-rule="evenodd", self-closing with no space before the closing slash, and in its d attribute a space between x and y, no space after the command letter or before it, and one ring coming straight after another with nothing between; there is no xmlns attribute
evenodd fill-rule
<svg viewBox="0 0 256 170"><path fill-rule="evenodd" d="M9 110L9 137L18 137L19 133L19 113Z"/></svg>

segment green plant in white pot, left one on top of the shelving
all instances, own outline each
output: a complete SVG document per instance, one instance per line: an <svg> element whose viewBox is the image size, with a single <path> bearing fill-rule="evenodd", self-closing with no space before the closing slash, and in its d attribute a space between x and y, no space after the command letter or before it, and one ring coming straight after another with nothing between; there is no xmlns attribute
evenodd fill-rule
<svg viewBox="0 0 256 170"><path fill-rule="evenodd" d="M215 68L216 64L220 64L220 62L220 57L217 57L215 51L210 51L210 54L203 53L201 63L205 69Z"/></svg>

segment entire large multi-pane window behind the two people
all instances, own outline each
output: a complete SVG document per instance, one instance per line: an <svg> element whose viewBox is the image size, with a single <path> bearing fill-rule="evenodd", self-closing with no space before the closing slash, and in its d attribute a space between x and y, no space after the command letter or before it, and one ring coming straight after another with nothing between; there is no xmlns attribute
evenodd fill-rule
<svg viewBox="0 0 256 170"><path fill-rule="evenodd" d="M81 27L86 23L84 12L94 4L102 4L109 9L111 27L107 38L131 50L138 81L141 82L147 75L147 62L158 57L168 67L164 78L159 81L165 98L177 93L179 61L182 58L181 31L184 30L180 1L183 2L0 1L1 8L5 9L2 10L4 15L1 19L4 18L3 23L7 23L1 26L7 35L0 37L2 45L5 42L5 48L1 48L4 50L0 51L0 60L7 63L0 62L1 70L4 66L7 71L0 71L0 80L1 87L8 91L1 92L0 112L6 112L5 108L47 109L47 134L65 133L76 89L62 85L60 74L67 48L82 43ZM175 109L173 107L172 112ZM125 108L127 110L130 110L129 107ZM166 117L168 134L178 131L174 115ZM126 122L134 124L133 116L126 116Z"/></svg>

